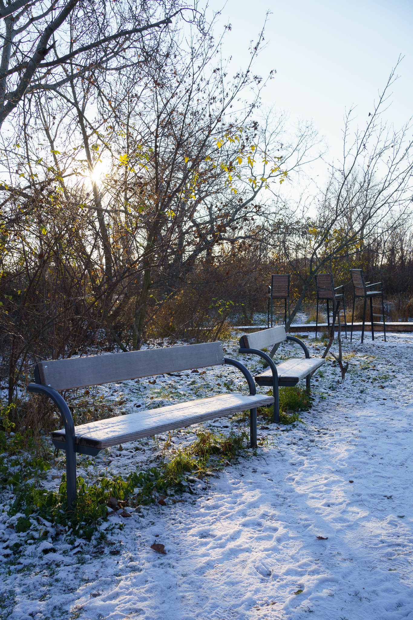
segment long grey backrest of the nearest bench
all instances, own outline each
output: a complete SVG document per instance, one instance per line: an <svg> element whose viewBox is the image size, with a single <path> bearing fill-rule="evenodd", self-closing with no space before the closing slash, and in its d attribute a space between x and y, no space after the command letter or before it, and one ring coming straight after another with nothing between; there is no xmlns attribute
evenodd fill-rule
<svg viewBox="0 0 413 620"><path fill-rule="evenodd" d="M35 381L56 390L224 364L220 342L40 361Z"/></svg>

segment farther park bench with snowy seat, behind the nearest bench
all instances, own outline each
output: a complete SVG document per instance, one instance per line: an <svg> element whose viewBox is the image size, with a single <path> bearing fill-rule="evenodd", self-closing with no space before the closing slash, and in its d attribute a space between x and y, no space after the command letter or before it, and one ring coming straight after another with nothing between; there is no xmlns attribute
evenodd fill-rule
<svg viewBox="0 0 413 620"><path fill-rule="evenodd" d="M272 356L276 352L278 345L284 340L297 342L305 353L303 358L290 358L280 364L275 364ZM264 353L263 349L270 348L269 353ZM239 353L249 353L259 355L269 366L263 373L257 374L254 379L259 386L271 386L274 395L274 412L272 420L280 421L279 387L295 386L300 379L306 379L306 389L310 392L311 374L324 364L323 358L310 359L308 348L299 338L285 334L284 325L270 327L252 334L245 334L240 338Z"/></svg>

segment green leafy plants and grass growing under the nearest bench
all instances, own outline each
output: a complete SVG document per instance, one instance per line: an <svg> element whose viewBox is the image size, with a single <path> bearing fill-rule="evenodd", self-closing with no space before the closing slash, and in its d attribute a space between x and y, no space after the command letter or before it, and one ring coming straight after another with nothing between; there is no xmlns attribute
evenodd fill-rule
<svg viewBox="0 0 413 620"><path fill-rule="evenodd" d="M9 409L2 410L0 418L0 488L12 489L14 493L8 514L19 515L15 523L15 531L19 533L27 532L34 523L33 516L38 516L53 523L61 533L90 540L98 525L108 516L110 498L116 498L120 507L134 506L155 502L160 493L166 495L171 491L187 490L186 472L194 469L206 471L212 455L219 457L215 466L223 467L227 458L235 458L245 447L248 438L245 432L231 432L225 436L199 430L192 445L178 449L158 467L133 471L126 478L103 476L93 484L87 484L78 476L77 504L67 510L66 474L63 474L57 490L41 487L40 479L45 477L51 465L45 458L37 456L36 451L27 449L25 437L13 433Z"/></svg>

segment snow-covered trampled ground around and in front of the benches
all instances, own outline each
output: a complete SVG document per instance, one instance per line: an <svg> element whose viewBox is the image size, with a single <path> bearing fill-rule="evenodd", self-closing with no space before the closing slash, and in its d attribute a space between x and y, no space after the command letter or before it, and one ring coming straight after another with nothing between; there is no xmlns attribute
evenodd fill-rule
<svg viewBox="0 0 413 620"><path fill-rule="evenodd" d="M306 343L321 355L320 343ZM226 348L256 365L237 354L235 340ZM257 456L192 484L175 498L183 501L167 498L129 518L113 513L104 544L95 537L69 545L47 523L49 542L29 540L9 527L17 516L4 504L0 618L413 619L413 335L389 334L387 343L367 335L363 345L357 335L344 352L345 381L326 363L302 423L261 428ZM188 390L241 389L235 378L220 366L105 394L136 410L185 399ZM227 432L231 424L213 426ZM188 433L175 433L175 445L191 440ZM97 467L126 471L156 459L162 443L101 453ZM60 473L52 470L45 484ZM17 559L7 551L16 541ZM154 542L166 553L152 550Z"/></svg>

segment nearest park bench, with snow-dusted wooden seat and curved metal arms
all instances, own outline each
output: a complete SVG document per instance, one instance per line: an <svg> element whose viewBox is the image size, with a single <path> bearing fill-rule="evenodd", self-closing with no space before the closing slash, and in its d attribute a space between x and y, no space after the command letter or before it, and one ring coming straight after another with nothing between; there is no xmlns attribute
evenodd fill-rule
<svg viewBox="0 0 413 620"><path fill-rule="evenodd" d="M224 364L235 366L243 373L250 388L249 395L219 394L75 427L71 411L59 394L59 391L76 387ZM95 456L104 448L126 441L248 409L250 443L251 447L256 447L256 408L273 401L272 397L256 394L251 373L239 361L224 357L220 342L41 361L34 374L35 383L28 384L28 391L48 396L58 407L64 424L64 430L51 433L51 440L56 448L66 450L67 507L76 504L76 453Z"/></svg>

